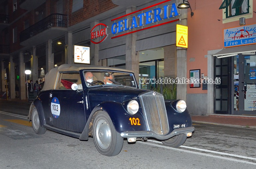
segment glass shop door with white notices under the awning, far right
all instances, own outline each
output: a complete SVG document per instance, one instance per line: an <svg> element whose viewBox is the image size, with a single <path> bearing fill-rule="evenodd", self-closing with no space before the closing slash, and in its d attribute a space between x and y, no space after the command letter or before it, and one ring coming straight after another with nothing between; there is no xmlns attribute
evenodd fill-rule
<svg viewBox="0 0 256 169"><path fill-rule="evenodd" d="M239 54L234 59L234 114L256 115L255 63L256 55Z"/></svg>

